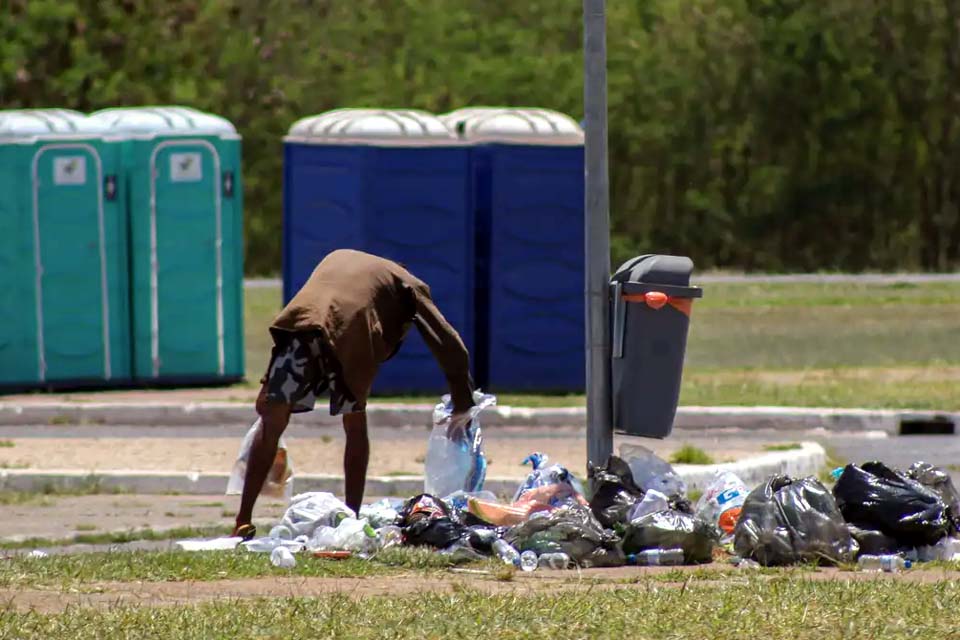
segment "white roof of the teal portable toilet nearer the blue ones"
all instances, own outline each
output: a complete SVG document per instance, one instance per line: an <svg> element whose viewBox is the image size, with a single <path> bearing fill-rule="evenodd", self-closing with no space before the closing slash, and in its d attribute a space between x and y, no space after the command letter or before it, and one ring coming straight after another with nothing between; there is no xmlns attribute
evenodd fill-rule
<svg viewBox="0 0 960 640"><path fill-rule="evenodd" d="M133 137L213 135L236 137L237 129L226 118L191 107L115 107L90 115L110 134Z"/></svg>

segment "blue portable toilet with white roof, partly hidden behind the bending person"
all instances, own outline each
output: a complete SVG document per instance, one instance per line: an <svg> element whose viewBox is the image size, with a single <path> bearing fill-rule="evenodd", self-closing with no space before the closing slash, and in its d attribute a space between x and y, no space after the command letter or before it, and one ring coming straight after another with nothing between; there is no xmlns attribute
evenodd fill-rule
<svg viewBox="0 0 960 640"><path fill-rule="evenodd" d="M430 285L467 348L473 338L474 224L467 145L436 116L339 109L284 139L283 297L336 249L395 260ZM416 329L382 367L376 394L447 389Z"/></svg>

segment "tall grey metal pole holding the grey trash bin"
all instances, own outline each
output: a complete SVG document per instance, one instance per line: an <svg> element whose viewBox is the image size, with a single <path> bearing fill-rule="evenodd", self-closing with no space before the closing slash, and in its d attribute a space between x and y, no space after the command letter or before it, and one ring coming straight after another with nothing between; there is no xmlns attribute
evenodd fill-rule
<svg viewBox="0 0 960 640"><path fill-rule="evenodd" d="M613 452L610 396L610 180L607 172L605 0L583 0L583 105L586 115L587 462Z"/></svg>

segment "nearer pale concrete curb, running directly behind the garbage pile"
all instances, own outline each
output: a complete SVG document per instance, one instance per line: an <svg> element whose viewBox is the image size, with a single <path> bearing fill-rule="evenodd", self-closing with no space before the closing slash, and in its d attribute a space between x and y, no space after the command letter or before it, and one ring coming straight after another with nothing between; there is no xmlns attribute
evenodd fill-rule
<svg viewBox="0 0 960 640"><path fill-rule="evenodd" d="M799 449L777 451L715 465L676 465L677 473L690 489L702 489L719 470L733 471L748 485L754 486L771 474L794 477L816 475L826 464L826 453L819 444L805 442ZM35 491L52 486L81 489L98 486L105 492L125 491L140 494L181 493L188 495L222 494L228 473L183 471L77 471L3 469L0 489ZM509 498L516 491L518 478L487 478L484 488ZM337 474L300 474L294 476L296 492L329 491L343 493L343 476ZM374 476L367 478L366 493L370 496L413 496L423 491L423 476Z"/></svg>

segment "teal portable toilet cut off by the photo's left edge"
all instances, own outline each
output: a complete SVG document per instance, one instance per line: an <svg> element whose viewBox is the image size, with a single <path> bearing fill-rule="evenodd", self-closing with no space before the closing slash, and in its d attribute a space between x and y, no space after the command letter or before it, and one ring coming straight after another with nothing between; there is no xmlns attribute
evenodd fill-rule
<svg viewBox="0 0 960 640"><path fill-rule="evenodd" d="M130 381L118 150L64 109L0 111L0 387Z"/></svg>

